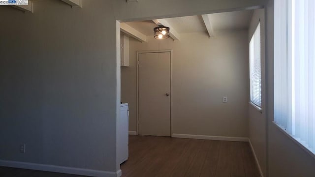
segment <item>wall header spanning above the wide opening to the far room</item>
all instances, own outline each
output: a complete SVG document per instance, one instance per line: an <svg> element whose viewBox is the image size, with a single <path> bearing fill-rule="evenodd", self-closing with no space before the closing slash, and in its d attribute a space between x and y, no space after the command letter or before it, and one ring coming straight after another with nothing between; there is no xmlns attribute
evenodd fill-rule
<svg viewBox="0 0 315 177"><path fill-rule="evenodd" d="M115 16L122 22L201 15L263 7L267 0L114 0Z"/></svg>

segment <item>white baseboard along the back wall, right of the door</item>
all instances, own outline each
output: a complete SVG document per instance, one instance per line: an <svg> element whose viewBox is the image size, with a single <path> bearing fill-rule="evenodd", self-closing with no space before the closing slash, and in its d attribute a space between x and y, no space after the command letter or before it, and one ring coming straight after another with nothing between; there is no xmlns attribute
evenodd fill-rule
<svg viewBox="0 0 315 177"><path fill-rule="evenodd" d="M201 140L221 140L221 141L239 141L248 142L246 137L223 137L223 136L208 136L208 135L188 135L188 134L176 134L173 133L174 138L191 138L191 139L201 139Z"/></svg>

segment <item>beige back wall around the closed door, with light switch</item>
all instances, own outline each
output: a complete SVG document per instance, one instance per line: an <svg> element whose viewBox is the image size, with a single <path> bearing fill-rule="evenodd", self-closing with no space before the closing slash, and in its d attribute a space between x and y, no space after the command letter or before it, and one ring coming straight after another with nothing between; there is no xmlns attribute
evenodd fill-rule
<svg viewBox="0 0 315 177"><path fill-rule="evenodd" d="M248 137L248 31L214 38L181 34L148 43L129 40L130 66L122 67L122 101L129 103L129 129L136 130L136 51L173 50L173 133ZM222 103L222 97L228 103Z"/></svg>

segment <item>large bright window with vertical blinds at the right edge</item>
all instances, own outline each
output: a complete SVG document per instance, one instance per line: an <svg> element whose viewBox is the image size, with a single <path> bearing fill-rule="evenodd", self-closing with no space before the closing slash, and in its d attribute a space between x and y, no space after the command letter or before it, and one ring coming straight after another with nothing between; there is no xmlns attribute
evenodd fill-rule
<svg viewBox="0 0 315 177"><path fill-rule="evenodd" d="M315 154L315 0L275 0L274 120Z"/></svg>

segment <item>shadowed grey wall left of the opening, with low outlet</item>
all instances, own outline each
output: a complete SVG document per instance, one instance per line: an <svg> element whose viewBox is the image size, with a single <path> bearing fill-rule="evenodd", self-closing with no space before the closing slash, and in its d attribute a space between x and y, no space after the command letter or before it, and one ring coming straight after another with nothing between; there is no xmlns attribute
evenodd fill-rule
<svg viewBox="0 0 315 177"><path fill-rule="evenodd" d="M110 0L82 3L0 7L0 160L119 170L116 20Z"/></svg>

